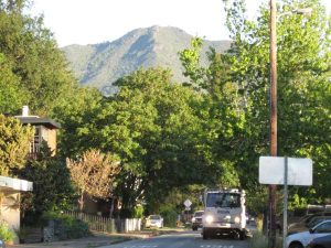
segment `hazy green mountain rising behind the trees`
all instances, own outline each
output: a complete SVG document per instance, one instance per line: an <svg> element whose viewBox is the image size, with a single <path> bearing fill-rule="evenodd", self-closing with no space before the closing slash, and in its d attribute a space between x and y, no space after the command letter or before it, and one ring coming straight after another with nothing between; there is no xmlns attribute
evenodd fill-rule
<svg viewBox="0 0 331 248"><path fill-rule="evenodd" d="M111 94L113 83L143 67L171 68L175 82L184 82L178 52L190 47L193 36L172 26L151 26L134 30L122 37L99 44L68 45L63 47L70 65L84 86ZM202 64L210 46L217 52L229 47L229 41L204 41Z"/></svg>

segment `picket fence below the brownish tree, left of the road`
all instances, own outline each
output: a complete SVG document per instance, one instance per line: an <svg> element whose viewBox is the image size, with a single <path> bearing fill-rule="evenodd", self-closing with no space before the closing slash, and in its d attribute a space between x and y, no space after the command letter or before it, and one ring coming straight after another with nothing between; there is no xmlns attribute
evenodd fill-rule
<svg viewBox="0 0 331 248"><path fill-rule="evenodd" d="M72 216L88 224L90 230L105 233L128 233L141 229L140 218L106 218L79 212L65 211L63 214Z"/></svg>

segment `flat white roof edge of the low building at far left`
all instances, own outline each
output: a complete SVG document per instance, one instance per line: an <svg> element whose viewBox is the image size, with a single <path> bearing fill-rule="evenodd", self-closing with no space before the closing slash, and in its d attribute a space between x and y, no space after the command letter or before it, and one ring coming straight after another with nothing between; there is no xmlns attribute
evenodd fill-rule
<svg viewBox="0 0 331 248"><path fill-rule="evenodd" d="M0 192L32 191L33 183L0 175Z"/></svg>

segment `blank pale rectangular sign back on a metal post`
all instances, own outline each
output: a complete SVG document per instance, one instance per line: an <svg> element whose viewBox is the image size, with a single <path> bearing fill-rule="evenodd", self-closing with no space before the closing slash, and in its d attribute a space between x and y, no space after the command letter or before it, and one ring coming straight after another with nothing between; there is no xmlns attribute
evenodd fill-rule
<svg viewBox="0 0 331 248"><path fill-rule="evenodd" d="M311 159L288 158L287 184L288 185L312 185L312 161ZM261 184L284 185L285 158L260 157L258 181Z"/></svg>

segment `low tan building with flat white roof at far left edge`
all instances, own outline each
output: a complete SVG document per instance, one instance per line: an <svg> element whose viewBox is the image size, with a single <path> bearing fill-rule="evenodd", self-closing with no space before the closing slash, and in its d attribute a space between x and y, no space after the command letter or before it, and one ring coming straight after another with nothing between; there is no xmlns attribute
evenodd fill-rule
<svg viewBox="0 0 331 248"><path fill-rule="evenodd" d="M14 230L20 228L20 194L32 186L25 180L0 176L0 219Z"/></svg>

